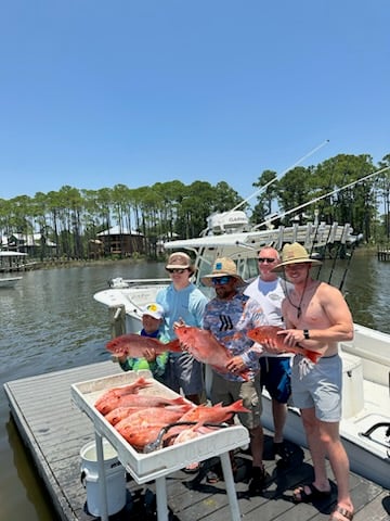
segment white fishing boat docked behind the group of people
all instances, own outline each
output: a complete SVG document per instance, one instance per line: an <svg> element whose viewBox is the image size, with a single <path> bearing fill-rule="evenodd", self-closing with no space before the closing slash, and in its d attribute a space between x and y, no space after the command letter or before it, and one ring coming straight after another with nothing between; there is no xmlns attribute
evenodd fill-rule
<svg viewBox="0 0 390 521"><path fill-rule="evenodd" d="M238 215L239 214L239 215ZM311 255L329 257L335 251L351 255L359 238L349 225L332 226L324 223L294 225L288 228L250 229L243 213L230 212L210 219L203 237L165 243L165 247L186 251L195 255L194 282L211 297L212 289L200 279L211 270L217 257L230 257L245 280L258 275L257 253L263 245L281 250L286 242L302 243ZM346 260L348 263L348 260ZM126 280L113 279L110 288L94 294L94 298L110 307L116 319L126 316L126 331L140 330L141 309L155 300L167 279ZM343 359L343 418L341 436L350 458L351 469L361 475L390 488L390 335L360 325L354 325L352 342L342 342ZM271 401L263 394L262 422L273 430ZM299 411L291 405L285 437L306 446Z"/></svg>

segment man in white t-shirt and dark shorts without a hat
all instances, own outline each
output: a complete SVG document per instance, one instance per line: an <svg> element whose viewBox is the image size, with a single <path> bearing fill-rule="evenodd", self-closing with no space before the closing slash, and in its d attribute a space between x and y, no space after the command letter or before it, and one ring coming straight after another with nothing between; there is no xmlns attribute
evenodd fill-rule
<svg viewBox="0 0 390 521"><path fill-rule="evenodd" d="M277 277L272 269L280 263L280 255L274 247L264 246L258 254L259 271L257 277L244 291L257 300L264 312L266 323L284 327L282 302L294 288L290 282ZM261 387L265 387L272 398L272 416L274 422L273 450L281 465L287 466L290 453L284 444L283 429L287 418L287 401L290 387L291 357L268 353L260 357Z"/></svg>

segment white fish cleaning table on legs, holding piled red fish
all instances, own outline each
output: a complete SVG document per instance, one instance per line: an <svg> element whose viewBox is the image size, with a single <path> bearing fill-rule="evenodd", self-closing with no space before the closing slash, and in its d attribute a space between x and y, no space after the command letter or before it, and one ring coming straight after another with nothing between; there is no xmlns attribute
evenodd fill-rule
<svg viewBox="0 0 390 521"><path fill-rule="evenodd" d="M138 484L155 480L158 521L168 521L166 476L194 461L204 461L205 459L219 456L222 463L232 521L239 521L240 514L229 452L249 443L247 429L242 425L231 425L150 454L139 453L98 411L94 404L109 389L128 385L140 377L145 377L151 383L150 386L142 389L140 394L158 395L168 398L177 398L179 396L172 390L152 378L150 371L129 371L123 374L72 384L73 401L86 412L94 427L99 475L102 476L100 479L102 521L108 520L102 437L107 439L113 445L118 454L119 461Z"/></svg>

